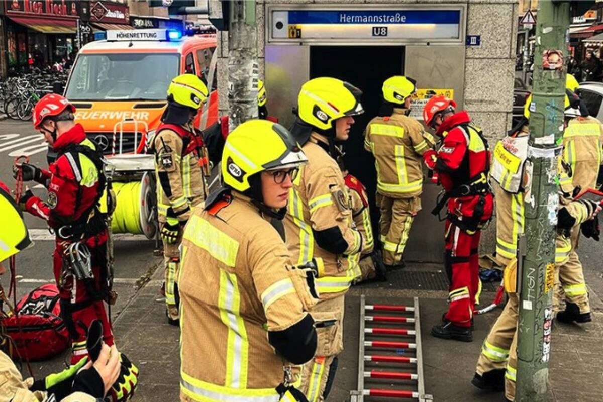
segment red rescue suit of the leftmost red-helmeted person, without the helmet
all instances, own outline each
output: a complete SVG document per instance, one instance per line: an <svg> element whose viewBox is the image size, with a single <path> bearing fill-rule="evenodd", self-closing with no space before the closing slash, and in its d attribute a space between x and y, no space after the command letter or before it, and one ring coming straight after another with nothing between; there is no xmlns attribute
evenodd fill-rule
<svg viewBox="0 0 603 402"><path fill-rule="evenodd" d="M69 328L73 342L71 364L77 363L87 355L86 329L95 319L103 322L103 339L107 345L113 345L113 332L102 298L102 289L106 289L106 240L107 230L103 228L99 216L88 219L90 210L98 201L100 183L81 184L86 172L77 162L80 157L74 146L93 146L86 139L86 133L80 124L63 133L54 142L54 151L60 155L49 170L42 170L48 189L48 201L43 202L33 196L25 203L25 209L33 215L46 219L56 234L53 254L54 278L60 291L63 319ZM76 148L77 149L77 148ZM83 177L84 175L84 177ZM95 214L99 215L98 209ZM85 216L84 216L85 215ZM91 224L90 222L96 222ZM72 234L77 228L86 227L86 232ZM91 228L92 227L92 228ZM70 234L68 236L68 233ZM65 237L62 237L65 235ZM63 267L63 252L75 239L86 243L92 254L93 286L91 283L76 280L68 269Z"/></svg>

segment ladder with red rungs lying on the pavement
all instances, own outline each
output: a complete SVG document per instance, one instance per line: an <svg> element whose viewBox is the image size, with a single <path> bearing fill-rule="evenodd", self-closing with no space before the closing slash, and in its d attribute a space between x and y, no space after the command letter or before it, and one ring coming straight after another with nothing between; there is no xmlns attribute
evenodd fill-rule
<svg viewBox="0 0 603 402"><path fill-rule="evenodd" d="M379 351L384 349L387 351ZM374 369L379 363L394 368L388 368L388 371ZM379 387L378 381L383 379L404 389L374 388ZM423 382L418 298L414 298L414 306L399 306L366 304L364 295L361 296L358 390L350 392L350 402L364 402L367 397L433 400L432 395L425 394Z"/></svg>

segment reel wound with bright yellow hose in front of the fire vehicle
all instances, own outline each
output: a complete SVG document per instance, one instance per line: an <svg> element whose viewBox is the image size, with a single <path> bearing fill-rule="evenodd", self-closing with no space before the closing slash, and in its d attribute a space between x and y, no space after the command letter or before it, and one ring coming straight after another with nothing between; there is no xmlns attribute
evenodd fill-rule
<svg viewBox="0 0 603 402"><path fill-rule="evenodd" d="M140 181L113 182L116 198L111 219L113 233L144 234L153 239L157 227L154 212L154 192L150 185L153 175L145 174ZM101 212L107 210L107 197L101 197Z"/></svg>

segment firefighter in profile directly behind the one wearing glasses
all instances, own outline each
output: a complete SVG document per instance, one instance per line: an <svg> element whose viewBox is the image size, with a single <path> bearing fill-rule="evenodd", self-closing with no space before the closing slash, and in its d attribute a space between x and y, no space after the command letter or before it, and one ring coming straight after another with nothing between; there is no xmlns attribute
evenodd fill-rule
<svg viewBox="0 0 603 402"><path fill-rule="evenodd" d="M358 275L367 239L355 228L349 190L336 159L354 123L364 113L361 90L335 78L314 78L301 86L291 133L308 156L293 181L285 219L293 262L311 263L318 272L320 302L311 310L318 328L318 350L303 366L301 391L310 402L327 398L343 350L344 295Z"/></svg>

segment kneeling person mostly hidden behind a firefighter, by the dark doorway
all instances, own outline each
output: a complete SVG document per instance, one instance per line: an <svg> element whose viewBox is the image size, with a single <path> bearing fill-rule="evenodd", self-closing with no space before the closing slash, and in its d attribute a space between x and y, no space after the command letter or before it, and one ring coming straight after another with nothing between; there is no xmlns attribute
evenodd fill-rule
<svg viewBox="0 0 603 402"><path fill-rule="evenodd" d="M383 263L383 257L379 250L374 250L373 228L371 226L371 215L368 207L367 189L353 175L343 171L344 181L346 181L347 190L350 193L350 202L352 203L352 219L366 240L364 250L362 250L355 283L362 281L386 281L387 271Z"/></svg>

